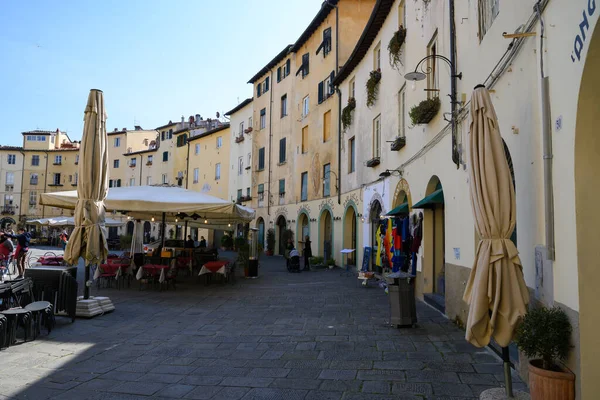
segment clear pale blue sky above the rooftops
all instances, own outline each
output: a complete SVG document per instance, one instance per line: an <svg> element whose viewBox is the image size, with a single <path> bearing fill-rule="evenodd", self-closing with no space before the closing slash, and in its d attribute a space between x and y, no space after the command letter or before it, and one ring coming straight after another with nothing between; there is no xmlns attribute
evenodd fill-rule
<svg viewBox="0 0 600 400"><path fill-rule="evenodd" d="M107 129L213 117L293 43L321 0L0 1L0 144L22 131L76 140L90 89Z"/></svg>

